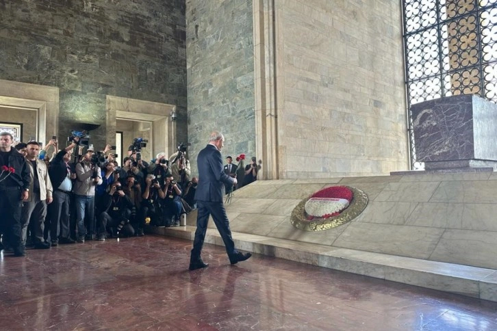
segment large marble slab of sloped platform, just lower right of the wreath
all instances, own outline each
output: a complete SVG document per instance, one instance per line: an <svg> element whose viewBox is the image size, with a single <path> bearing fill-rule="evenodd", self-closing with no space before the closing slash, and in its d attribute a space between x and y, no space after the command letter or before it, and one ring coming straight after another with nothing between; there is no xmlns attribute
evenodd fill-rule
<svg viewBox="0 0 497 331"><path fill-rule="evenodd" d="M351 222L334 247L427 259L444 229Z"/></svg>

